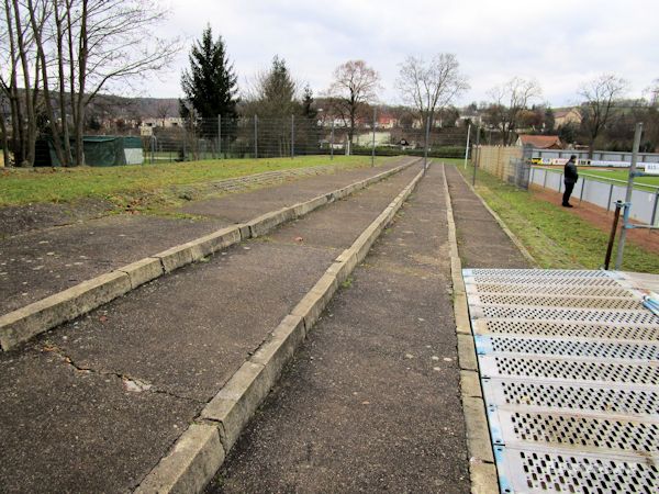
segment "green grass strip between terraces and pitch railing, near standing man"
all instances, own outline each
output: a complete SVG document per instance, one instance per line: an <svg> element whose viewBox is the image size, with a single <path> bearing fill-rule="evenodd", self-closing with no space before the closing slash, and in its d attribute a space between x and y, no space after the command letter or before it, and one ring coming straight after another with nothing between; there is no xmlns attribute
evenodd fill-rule
<svg viewBox="0 0 659 494"><path fill-rule="evenodd" d="M471 165L467 170L461 165L457 168L471 181ZM603 265L607 233L557 204L501 182L481 169L477 173L476 189L541 268L599 269ZM627 242L623 270L659 273L659 255Z"/></svg>

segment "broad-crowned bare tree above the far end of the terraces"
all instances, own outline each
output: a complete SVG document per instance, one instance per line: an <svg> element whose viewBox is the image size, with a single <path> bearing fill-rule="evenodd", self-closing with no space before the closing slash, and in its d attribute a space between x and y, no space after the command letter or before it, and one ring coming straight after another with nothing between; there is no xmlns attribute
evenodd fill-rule
<svg viewBox="0 0 659 494"><path fill-rule="evenodd" d="M409 56L400 65L396 88L403 100L416 108L424 125L429 117L432 127L435 112L469 89L459 68L457 57L450 53L437 54L427 63L422 57Z"/></svg>

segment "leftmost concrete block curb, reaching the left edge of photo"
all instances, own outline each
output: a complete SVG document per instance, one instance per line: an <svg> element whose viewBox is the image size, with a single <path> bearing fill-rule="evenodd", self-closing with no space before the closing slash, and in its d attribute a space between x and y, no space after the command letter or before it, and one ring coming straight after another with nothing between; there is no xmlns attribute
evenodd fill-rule
<svg viewBox="0 0 659 494"><path fill-rule="evenodd" d="M265 235L284 222L301 217L317 207L384 180L418 161L420 159L411 160L327 194L266 213L246 224L222 228L177 245L4 314L0 316L0 347L3 351L10 350L41 333L124 295L143 283L242 240Z"/></svg>

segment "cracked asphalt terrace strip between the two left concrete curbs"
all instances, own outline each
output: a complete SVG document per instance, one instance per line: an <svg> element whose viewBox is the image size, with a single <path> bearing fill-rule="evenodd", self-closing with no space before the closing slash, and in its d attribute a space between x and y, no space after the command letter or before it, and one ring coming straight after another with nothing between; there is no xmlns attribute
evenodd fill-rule
<svg viewBox="0 0 659 494"><path fill-rule="evenodd" d="M323 177L294 199L297 184L259 195L297 202L376 171L382 168L349 180ZM0 491L132 491L417 171L411 167L270 236L158 278L0 355ZM232 214L242 221L255 213L241 216L236 202ZM431 321L429 302L427 311L414 316L418 324Z"/></svg>

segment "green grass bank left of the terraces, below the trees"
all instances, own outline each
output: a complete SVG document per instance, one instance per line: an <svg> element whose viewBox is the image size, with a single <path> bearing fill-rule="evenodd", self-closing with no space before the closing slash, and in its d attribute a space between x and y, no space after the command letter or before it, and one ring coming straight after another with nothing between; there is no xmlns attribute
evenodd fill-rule
<svg viewBox="0 0 659 494"><path fill-rule="evenodd" d="M381 165L395 158L376 158ZM368 156L326 156L263 159L226 159L166 162L109 168L1 169L0 206L35 202L74 202L92 198L125 204L135 198L158 194L172 187L203 187L210 181L293 168L338 165L358 168L370 165Z"/></svg>

